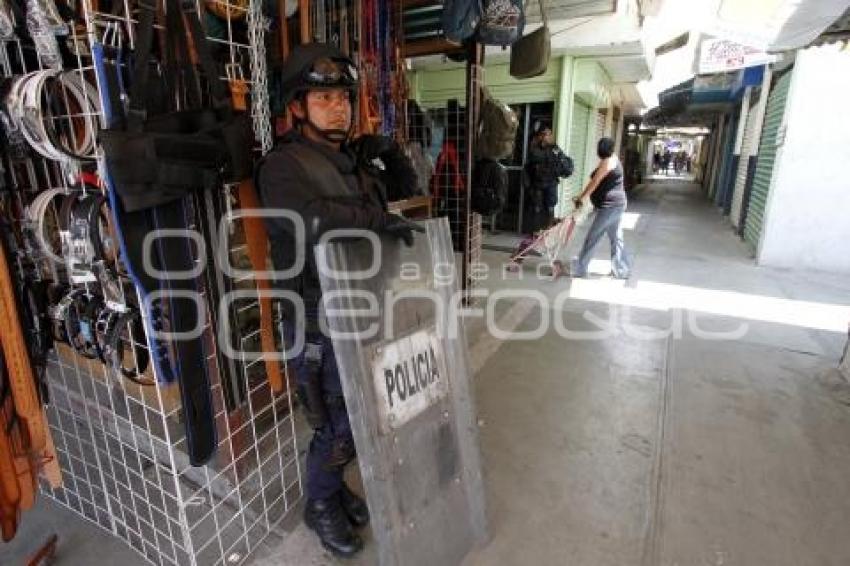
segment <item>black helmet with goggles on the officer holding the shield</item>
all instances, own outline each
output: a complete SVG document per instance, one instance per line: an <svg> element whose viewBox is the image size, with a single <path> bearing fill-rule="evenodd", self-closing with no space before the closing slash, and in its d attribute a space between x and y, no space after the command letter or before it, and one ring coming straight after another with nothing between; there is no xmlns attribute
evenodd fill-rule
<svg viewBox="0 0 850 566"><path fill-rule="evenodd" d="M285 104L310 90L341 88L350 93L353 107L360 86L354 62L335 47L323 43L296 46L281 68L280 82ZM342 142L348 137L348 131L318 128L309 116L306 122L330 141Z"/></svg>

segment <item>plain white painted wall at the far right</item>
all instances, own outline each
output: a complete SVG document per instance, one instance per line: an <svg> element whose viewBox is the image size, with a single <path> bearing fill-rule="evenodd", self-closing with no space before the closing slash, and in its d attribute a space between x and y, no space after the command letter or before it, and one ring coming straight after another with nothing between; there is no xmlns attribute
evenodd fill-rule
<svg viewBox="0 0 850 566"><path fill-rule="evenodd" d="M793 73L758 261L850 273L850 48L800 51Z"/></svg>

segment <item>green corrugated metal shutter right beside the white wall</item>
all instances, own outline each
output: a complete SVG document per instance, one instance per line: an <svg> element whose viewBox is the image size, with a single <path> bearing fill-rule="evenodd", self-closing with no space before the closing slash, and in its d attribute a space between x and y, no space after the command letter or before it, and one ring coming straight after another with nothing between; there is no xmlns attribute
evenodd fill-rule
<svg viewBox="0 0 850 566"><path fill-rule="evenodd" d="M776 138L785 114L785 101L788 98L790 84L791 71L779 78L767 99L767 111L764 115L764 126L762 126L759 143L759 158L753 177L750 202L747 203L747 220L744 226L744 240L752 246L753 250L758 247L764 226L764 210L773 179L773 166L776 162Z"/></svg>

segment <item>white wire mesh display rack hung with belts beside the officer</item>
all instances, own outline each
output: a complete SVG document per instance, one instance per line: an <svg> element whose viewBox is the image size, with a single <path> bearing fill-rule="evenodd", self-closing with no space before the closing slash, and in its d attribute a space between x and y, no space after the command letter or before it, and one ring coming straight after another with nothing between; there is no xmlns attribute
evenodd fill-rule
<svg viewBox="0 0 850 566"><path fill-rule="evenodd" d="M209 40L228 61L220 79L246 77L257 145L262 152L268 151L271 124L265 89L265 18L260 2L252 0L246 13L245 5L214 1L224 16L218 18L218 33ZM68 38L76 64L65 70L78 73L97 87L91 47L101 41L106 30L117 28L132 48L135 20L132 12L116 16L98 12L95 6L93 0L83 0L80 5L84 25L72 27ZM198 10L204 13L200 3ZM25 68L24 61L32 58L24 57L23 49L17 40L2 44L0 67L4 76L36 70ZM81 116L91 127L94 122L104 123L96 109L82 110ZM15 208L19 210L48 188L69 191L69 178L78 173L71 160L57 162L32 152L24 156L7 154L3 159L13 182L10 194L18 201ZM101 172L102 167L99 161ZM211 198L217 200L220 209L230 210L236 206L235 186L222 187ZM21 218L13 220L18 228L25 228ZM193 227L197 227L197 220ZM238 221L231 232L229 256L234 265L240 265L245 259L245 244ZM212 254L213 250L207 252ZM67 276L67 266L52 264L47 257L19 254L16 259L20 270L24 263L32 262L38 276ZM214 285L212 277L206 273L201 286L209 289ZM120 266L117 280L116 302L140 304ZM96 288L97 281L77 285L86 292L101 292ZM232 285L256 293L251 278L234 280ZM205 466L189 463L176 385L160 383L152 368L147 370L149 385L116 378L105 365L80 356L66 344L57 343L49 353L47 414L63 487L50 489L43 484L42 492L121 538L152 564L244 563L302 496L290 392L287 388L275 394L262 359L250 355L260 350L259 301L242 298L230 306L233 341L236 350L243 352L235 359L226 358L217 348L209 313L217 312L218 305L210 307L204 340L207 362L214 368L209 374L218 447ZM136 357L147 347L147 341L135 335L131 327L127 333L134 345L129 351Z"/></svg>

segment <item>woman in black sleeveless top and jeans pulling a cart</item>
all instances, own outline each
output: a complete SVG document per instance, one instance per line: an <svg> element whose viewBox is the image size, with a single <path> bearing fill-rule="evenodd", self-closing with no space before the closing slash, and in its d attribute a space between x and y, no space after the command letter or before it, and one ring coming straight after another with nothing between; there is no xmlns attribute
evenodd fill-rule
<svg viewBox="0 0 850 566"><path fill-rule="evenodd" d="M607 234L611 241L611 275L617 279L628 279L631 271L623 243L623 213L626 211L626 191L623 187L623 165L614 155L614 140L602 138L596 146L599 165L593 171L590 182L577 196L576 207L584 199L596 209L596 216L587 232L584 246L570 270L572 277L587 277L587 267L593 258L593 250L602 236Z"/></svg>

